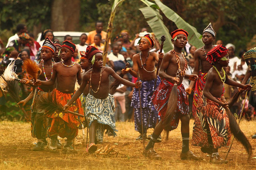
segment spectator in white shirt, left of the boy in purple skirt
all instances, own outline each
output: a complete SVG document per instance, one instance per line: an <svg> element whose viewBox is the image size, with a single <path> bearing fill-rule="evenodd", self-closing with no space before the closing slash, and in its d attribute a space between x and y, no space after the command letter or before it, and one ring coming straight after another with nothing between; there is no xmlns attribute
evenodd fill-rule
<svg viewBox="0 0 256 170"><path fill-rule="evenodd" d="M112 51L108 58L108 65L115 71L122 70L125 67L125 59L124 56L119 53L119 45L114 44L112 46Z"/></svg>

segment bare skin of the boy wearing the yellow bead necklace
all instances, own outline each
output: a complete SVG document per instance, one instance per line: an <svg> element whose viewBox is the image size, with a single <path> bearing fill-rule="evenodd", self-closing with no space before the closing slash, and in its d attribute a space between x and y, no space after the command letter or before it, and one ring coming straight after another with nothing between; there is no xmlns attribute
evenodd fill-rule
<svg viewBox="0 0 256 170"><path fill-rule="evenodd" d="M228 54L225 56L228 58ZM228 66L229 60L222 61L218 59L215 63L214 66L217 68L218 72L220 73L220 76L224 76L224 72L222 71L222 67ZM250 84L240 84L230 78L228 78L228 74L226 73L226 80L225 83L230 85L230 86L236 86L239 88L242 88L244 90L251 90L252 86ZM222 95L223 91L223 82L221 81L218 73L214 68L211 68L208 71L208 74L206 75L206 83L204 86L203 94L206 98L212 100L213 102L216 102L220 106L226 108L228 107L228 102L222 102L217 100L216 98L220 98ZM213 149L213 152L216 153L218 152L217 148Z"/></svg>

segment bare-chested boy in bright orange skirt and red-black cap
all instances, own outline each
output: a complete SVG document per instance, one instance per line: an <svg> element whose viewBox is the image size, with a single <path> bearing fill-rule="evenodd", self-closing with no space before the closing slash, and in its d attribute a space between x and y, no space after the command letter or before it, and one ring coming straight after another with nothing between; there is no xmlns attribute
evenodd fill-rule
<svg viewBox="0 0 256 170"><path fill-rule="evenodd" d="M78 84L81 84L81 66L75 62L71 61L76 45L70 41L64 41L60 48L60 56L62 57L62 62L55 63L53 65L52 77L50 80L41 81L36 80L37 85L52 86L57 80L56 89L53 90L54 95L56 95L57 102L64 106L74 95L74 87L76 79ZM70 111L83 114L82 105L80 99L72 102L72 106L69 108ZM64 151L75 152L72 147L72 140L78 134L78 127L80 127L82 117L78 117L71 113L53 113L49 116L47 134L51 139L49 149L52 152L57 150L57 136L62 138L67 138L64 144Z"/></svg>

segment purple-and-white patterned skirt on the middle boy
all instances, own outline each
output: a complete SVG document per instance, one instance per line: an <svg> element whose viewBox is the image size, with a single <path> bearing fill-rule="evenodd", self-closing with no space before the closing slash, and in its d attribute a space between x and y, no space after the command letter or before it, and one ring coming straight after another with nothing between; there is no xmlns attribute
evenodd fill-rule
<svg viewBox="0 0 256 170"><path fill-rule="evenodd" d="M158 87L160 81L161 81L160 77L158 76L156 81L156 87ZM140 97L139 97L139 90L137 88L134 88L134 92L132 94L131 107L134 107L135 130L140 132L141 134L142 134L142 129L141 129L141 114L140 114L140 98L141 98L144 133L146 133L146 130L147 130L146 127L155 128L156 121L157 120L160 121L155 107L154 106L151 107L152 105L151 97L154 93L154 89L156 89L154 88L154 82L155 82L155 79L150 81L142 81L142 86L140 88ZM149 118L149 124L148 124L149 116L150 118Z"/></svg>

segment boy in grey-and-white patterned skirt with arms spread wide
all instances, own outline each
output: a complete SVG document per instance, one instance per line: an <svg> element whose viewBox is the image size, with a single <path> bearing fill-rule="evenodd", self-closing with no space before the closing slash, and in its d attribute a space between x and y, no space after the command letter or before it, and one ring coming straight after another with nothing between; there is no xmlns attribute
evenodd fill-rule
<svg viewBox="0 0 256 170"><path fill-rule="evenodd" d="M140 88L141 83L129 82L118 76L112 68L103 66L102 53L94 46L87 47L86 58L92 63L92 69L83 75L80 88L64 106L64 109L68 109L79 98L89 82L90 93L86 97L85 116L89 121L90 145L87 146L86 152L92 153L97 149L95 143L102 142L104 129L107 129L106 134L116 136L114 97L108 93L109 75L126 86Z"/></svg>

